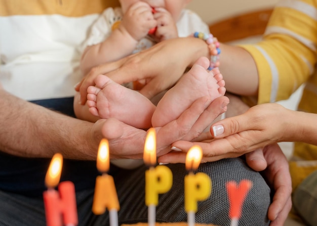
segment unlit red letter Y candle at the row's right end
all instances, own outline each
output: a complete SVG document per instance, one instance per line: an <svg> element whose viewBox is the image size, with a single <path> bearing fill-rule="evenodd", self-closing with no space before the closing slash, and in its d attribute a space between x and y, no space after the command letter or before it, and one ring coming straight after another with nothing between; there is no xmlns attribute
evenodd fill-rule
<svg viewBox="0 0 317 226"><path fill-rule="evenodd" d="M237 226L239 218L241 217L242 206L244 200L252 187L250 180L241 180L240 185L233 181L226 184L228 198L230 202L229 217L231 219L231 226Z"/></svg>

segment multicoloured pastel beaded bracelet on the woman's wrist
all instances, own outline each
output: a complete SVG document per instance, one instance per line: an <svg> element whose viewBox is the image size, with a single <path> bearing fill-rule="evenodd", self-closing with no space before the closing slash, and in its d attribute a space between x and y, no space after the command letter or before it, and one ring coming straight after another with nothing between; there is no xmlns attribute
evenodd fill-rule
<svg viewBox="0 0 317 226"><path fill-rule="evenodd" d="M206 34L203 32L195 32L193 36L205 40L208 44L210 53L210 66L208 70L212 70L215 67L219 67L219 54L221 53L221 51L219 48L220 43L217 40L217 38L214 37L212 34Z"/></svg>

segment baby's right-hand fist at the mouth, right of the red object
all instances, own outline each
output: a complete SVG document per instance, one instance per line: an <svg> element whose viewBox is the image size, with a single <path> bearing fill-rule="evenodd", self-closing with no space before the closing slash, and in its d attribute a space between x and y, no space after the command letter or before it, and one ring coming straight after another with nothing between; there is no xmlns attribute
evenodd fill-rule
<svg viewBox="0 0 317 226"><path fill-rule="evenodd" d="M157 41L177 38L176 22L170 12L163 8L155 8L154 19L157 21L157 29L154 34Z"/></svg>

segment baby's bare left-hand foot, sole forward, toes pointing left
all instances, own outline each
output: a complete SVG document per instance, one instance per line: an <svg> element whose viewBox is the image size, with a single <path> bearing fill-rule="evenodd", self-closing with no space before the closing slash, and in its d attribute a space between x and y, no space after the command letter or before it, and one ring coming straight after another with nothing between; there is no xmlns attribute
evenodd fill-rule
<svg viewBox="0 0 317 226"><path fill-rule="evenodd" d="M149 128L155 106L143 95L98 75L87 89L87 105L94 116L116 118L137 128Z"/></svg>

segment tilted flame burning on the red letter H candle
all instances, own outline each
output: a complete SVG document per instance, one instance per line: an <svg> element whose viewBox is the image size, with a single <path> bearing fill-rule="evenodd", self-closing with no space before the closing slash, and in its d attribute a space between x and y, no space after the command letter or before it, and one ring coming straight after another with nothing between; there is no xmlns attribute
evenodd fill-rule
<svg viewBox="0 0 317 226"><path fill-rule="evenodd" d="M58 185L61 178L61 171L63 165L63 156L56 153L50 163L49 169L45 176L45 185L48 188L54 188Z"/></svg>

